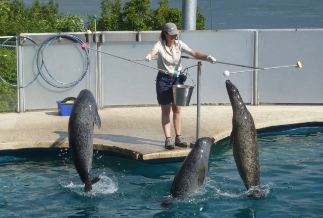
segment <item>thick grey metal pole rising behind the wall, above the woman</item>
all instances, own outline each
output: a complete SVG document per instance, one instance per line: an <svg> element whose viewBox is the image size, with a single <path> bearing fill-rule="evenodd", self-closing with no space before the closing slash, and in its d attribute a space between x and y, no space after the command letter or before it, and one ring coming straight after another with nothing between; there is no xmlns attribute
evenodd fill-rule
<svg viewBox="0 0 323 218"><path fill-rule="evenodd" d="M183 0L182 30L196 30L197 0Z"/></svg>

